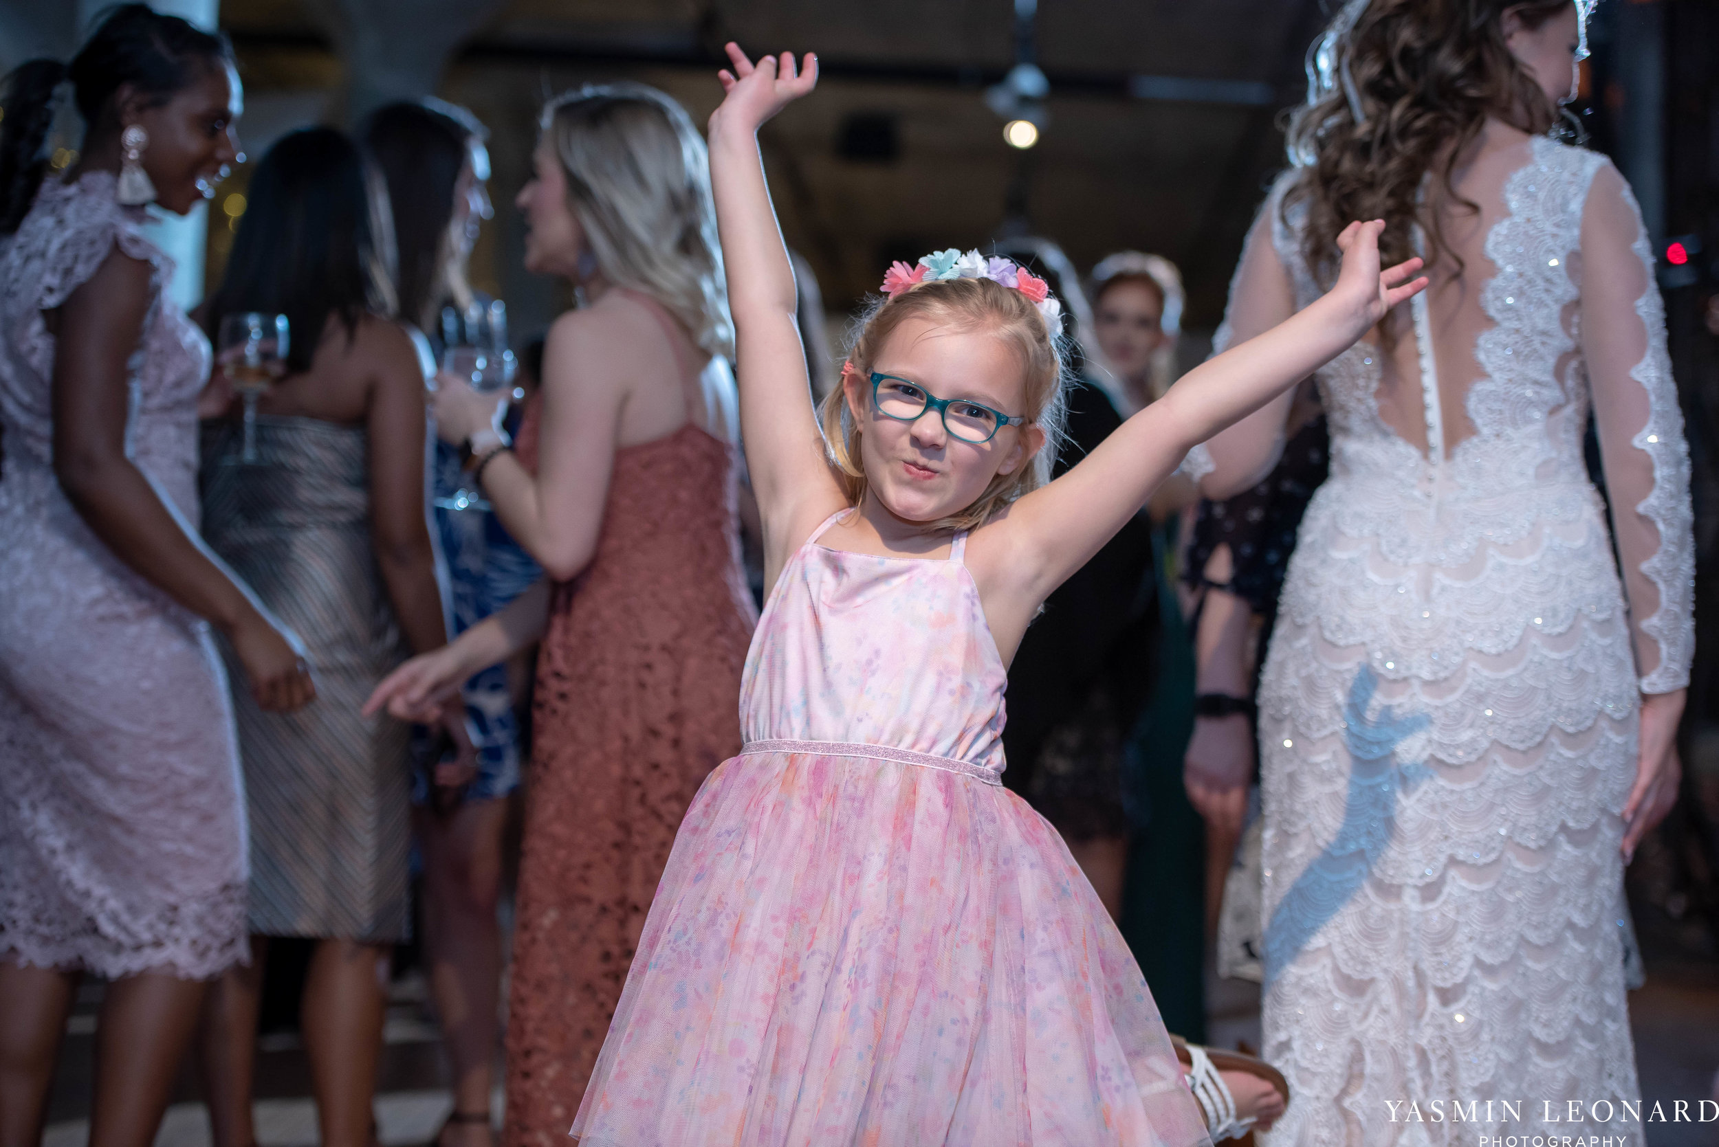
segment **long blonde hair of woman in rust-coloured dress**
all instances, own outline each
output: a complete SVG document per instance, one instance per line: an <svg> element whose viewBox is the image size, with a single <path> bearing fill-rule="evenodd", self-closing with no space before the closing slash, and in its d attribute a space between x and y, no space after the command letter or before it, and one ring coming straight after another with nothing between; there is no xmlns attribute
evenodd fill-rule
<svg viewBox="0 0 1719 1147"><path fill-rule="evenodd" d="M686 110L634 82L550 100L540 124L596 266L657 299L707 352L734 357L710 155Z"/></svg>

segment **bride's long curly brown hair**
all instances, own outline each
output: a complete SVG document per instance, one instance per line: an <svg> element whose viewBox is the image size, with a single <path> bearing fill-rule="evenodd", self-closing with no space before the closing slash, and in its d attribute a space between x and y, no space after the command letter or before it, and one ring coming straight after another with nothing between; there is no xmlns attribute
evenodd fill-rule
<svg viewBox="0 0 1719 1147"><path fill-rule="evenodd" d="M1306 163L1284 196L1284 208L1306 203L1303 254L1331 283L1337 270L1337 232L1349 220L1386 220L1384 264L1415 254L1411 223L1427 234L1427 261L1461 258L1444 240L1442 197L1478 211L1456 194L1451 173L1489 115L1530 134L1559 118L1521 64L1504 46L1504 14L1528 29L1573 0L1372 0L1337 45L1337 62L1363 122L1355 120L1344 84L1289 117L1289 155ZM1339 17L1341 19L1341 17ZM1312 158L1312 161L1308 161ZM1442 196L1420 201L1422 180L1437 172Z"/></svg>

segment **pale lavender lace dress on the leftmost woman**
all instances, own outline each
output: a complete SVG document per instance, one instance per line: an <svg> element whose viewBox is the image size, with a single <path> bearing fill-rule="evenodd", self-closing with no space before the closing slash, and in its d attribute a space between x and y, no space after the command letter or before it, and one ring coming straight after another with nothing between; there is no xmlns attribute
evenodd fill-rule
<svg viewBox="0 0 1719 1147"><path fill-rule="evenodd" d="M125 453L198 520L203 333L113 177L48 180L0 239L0 955L107 977L241 962L246 847L210 627L120 561L53 476L52 311L117 247L153 266Z"/></svg>

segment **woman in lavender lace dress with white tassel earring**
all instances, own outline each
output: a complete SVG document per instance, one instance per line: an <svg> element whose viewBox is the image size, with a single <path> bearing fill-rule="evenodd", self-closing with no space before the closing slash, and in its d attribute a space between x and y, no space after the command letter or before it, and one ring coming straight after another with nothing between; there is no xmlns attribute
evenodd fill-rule
<svg viewBox="0 0 1719 1147"><path fill-rule="evenodd" d="M48 177L69 81L88 125ZM227 41L141 3L0 124L0 1144L41 1135L79 975L108 979L89 1142L144 1145L206 980L246 958L223 632L251 699L311 699L294 639L198 539L210 347L143 208L186 215L237 155Z"/></svg>

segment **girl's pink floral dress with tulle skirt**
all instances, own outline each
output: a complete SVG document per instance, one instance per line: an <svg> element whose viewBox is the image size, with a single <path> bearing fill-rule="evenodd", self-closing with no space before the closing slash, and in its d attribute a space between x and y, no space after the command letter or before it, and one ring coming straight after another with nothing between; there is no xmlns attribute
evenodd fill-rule
<svg viewBox="0 0 1719 1147"><path fill-rule="evenodd" d="M839 517L839 515L837 515ZM1207 1144L1135 958L1002 788L963 565L818 544L746 658L746 749L681 824L584 1147Z"/></svg>

